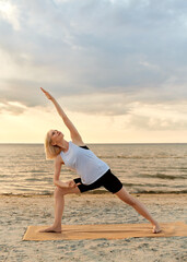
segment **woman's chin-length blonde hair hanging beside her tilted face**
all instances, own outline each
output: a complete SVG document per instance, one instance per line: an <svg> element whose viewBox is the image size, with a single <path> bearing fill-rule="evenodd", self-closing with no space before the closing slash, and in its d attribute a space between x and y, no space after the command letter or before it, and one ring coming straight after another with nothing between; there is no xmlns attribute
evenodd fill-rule
<svg viewBox="0 0 187 262"><path fill-rule="evenodd" d="M61 148L58 145L51 144L51 139L48 131L45 139L46 159L54 159L57 155L60 154L60 152L61 152Z"/></svg>

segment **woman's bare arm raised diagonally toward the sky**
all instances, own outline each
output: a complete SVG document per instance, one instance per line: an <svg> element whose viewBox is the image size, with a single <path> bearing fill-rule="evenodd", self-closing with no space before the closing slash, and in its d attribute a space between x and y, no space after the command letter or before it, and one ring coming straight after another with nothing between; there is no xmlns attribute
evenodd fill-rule
<svg viewBox="0 0 187 262"><path fill-rule="evenodd" d="M40 87L40 90L44 92L44 94L46 95L46 97L48 99L51 100L51 103L54 104L54 106L56 107L59 116L62 118L63 123L66 124L66 127L69 129L70 131L70 135L72 139L72 142L78 144L78 145L84 145L82 138L80 135L80 133L78 132L77 128L74 127L74 124L71 122L71 120L68 118L68 116L65 114L65 111L62 110L61 106L57 103L57 100L47 92L45 91L43 87Z"/></svg>

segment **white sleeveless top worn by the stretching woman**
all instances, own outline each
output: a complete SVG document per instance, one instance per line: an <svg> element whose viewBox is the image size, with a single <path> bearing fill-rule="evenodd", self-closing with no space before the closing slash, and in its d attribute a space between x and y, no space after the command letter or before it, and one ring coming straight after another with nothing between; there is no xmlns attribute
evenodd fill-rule
<svg viewBox="0 0 187 262"><path fill-rule="evenodd" d="M84 184L95 182L109 169L109 166L92 151L82 148L71 141L69 142L69 150L66 153L61 151L60 155L65 165L75 170Z"/></svg>

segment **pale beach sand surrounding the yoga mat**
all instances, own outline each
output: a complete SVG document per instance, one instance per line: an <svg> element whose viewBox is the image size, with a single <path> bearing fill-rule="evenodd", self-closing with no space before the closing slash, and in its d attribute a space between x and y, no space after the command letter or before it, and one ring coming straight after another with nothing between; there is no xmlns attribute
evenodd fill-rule
<svg viewBox="0 0 187 262"><path fill-rule="evenodd" d="M159 222L187 223L187 194L137 194ZM22 241L30 225L49 225L52 196L0 196L0 261L187 261L187 238ZM147 223L110 193L67 195L62 224Z"/></svg>

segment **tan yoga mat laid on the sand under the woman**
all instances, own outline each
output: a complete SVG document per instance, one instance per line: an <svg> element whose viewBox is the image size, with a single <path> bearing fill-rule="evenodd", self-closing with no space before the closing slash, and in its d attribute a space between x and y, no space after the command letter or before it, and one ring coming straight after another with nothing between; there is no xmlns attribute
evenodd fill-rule
<svg viewBox="0 0 187 262"><path fill-rule="evenodd" d="M162 231L152 233L151 224L100 224L100 225L62 225L62 231L38 233L48 226L28 226L23 240L80 240L80 239L122 239L132 237L187 237L184 222L161 223Z"/></svg>

